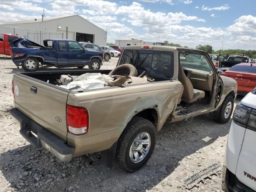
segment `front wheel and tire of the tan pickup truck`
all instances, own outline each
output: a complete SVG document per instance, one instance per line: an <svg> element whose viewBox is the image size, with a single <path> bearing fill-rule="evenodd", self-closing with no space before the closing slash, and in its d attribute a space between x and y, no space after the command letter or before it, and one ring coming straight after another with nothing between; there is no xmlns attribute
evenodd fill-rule
<svg viewBox="0 0 256 192"><path fill-rule="evenodd" d="M230 119L234 108L234 99L232 95L225 98L224 102L220 107L218 117L215 119L216 122L224 124Z"/></svg>

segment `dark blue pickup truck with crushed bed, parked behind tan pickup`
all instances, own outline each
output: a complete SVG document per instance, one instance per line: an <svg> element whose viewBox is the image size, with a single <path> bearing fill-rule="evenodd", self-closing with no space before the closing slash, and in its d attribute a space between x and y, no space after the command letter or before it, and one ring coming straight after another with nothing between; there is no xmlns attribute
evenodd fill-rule
<svg viewBox="0 0 256 192"><path fill-rule="evenodd" d="M10 54L16 66L27 72L48 67L78 67L88 65L89 69L100 69L103 55L101 52L84 49L78 42L66 39L47 39L44 46L25 38L10 43Z"/></svg>

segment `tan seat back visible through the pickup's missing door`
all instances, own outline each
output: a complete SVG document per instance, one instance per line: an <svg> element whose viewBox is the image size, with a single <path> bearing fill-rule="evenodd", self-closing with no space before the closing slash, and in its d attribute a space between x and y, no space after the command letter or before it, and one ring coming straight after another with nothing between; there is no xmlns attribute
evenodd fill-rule
<svg viewBox="0 0 256 192"><path fill-rule="evenodd" d="M179 67L179 76L178 76L178 80L182 83L182 85L184 86L184 90L183 90L183 94L182 94L182 98L191 100L193 98L194 95L194 88L193 85L191 83L191 81L189 80L189 78L186 76L186 74L183 71L182 66L180 65Z"/></svg>

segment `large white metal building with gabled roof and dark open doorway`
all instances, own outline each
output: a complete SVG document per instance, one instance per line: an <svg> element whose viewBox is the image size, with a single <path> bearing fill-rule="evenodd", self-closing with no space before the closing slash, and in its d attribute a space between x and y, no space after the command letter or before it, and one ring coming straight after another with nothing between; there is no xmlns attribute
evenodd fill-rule
<svg viewBox="0 0 256 192"><path fill-rule="evenodd" d="M65 38L105 46L107 32L79 15L24 20L0 24L0 33L16 34L42 44L44 39Z"/></svg>

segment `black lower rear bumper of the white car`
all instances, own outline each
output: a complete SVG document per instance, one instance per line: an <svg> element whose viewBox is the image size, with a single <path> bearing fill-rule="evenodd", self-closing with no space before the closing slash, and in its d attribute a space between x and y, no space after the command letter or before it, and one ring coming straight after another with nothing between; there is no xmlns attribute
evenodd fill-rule
<svg viewBox="0 0 256 192"><path fill-rule="evenodd" d="M240 182L226 166L223 166L222 170L222 190L224 192L255 192Z"/></svg>

